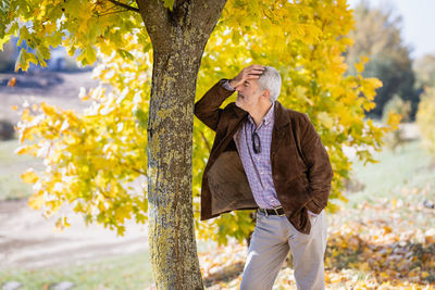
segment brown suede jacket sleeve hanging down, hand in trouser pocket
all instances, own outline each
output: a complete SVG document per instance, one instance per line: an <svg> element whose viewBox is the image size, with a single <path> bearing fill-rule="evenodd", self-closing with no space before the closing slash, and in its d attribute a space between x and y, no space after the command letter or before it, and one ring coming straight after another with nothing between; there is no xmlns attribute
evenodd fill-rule
<svg viewBox="0 0 435 290"><path fill-rule="evenodd" d="M320 214L327 205L331 192L331 180L333 178L333 168L330 162L330 155L322 140L312 125L307 114L301 121L301 150L308 166L308 179L310 184L310 196L312 199L306 204L306 207L314 214Z"/></svg>

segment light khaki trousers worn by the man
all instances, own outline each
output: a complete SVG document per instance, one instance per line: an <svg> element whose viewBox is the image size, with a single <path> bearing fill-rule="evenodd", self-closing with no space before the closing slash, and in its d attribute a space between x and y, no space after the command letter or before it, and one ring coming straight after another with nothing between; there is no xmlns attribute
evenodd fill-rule
<svg viewBox="0 0 435 290"><path fill-rule="evenodd" d="M325 289L326 212L323 210L316 216L309 216L311 231L304 235L286 216L257 213L240 290L272 289L288 250L293 255L298 290Z"/></svg>

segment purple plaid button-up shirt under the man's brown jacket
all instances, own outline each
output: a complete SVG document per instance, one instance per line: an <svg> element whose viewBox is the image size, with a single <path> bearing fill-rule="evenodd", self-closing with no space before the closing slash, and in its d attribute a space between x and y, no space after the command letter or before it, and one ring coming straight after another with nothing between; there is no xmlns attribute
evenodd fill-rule
<svg viewBox="0 0 435 290"><path fill-rule="evenodd" d="M223 87L228 90L235 90L228 80L223 83ZM241 125L233 137L244 164L253 199L263 209L281 206L273 184L271 165L272 129L275 123L274 106L275 102L272 103L258 127L251 115L248 115L248 121ZM253 152L252 148L252 133L254 130L259 135L261 143L261 152L258 154ZM315 215L310 211L308 212Z"/></svg>

